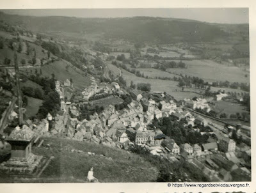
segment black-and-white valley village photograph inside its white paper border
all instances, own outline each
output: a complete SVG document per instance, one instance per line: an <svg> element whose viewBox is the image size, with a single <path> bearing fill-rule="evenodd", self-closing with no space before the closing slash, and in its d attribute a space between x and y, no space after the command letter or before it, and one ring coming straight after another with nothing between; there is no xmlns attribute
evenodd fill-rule
<svg viewBox="0 0 256 193"><path fill-rule="evenodd" d="M1 9L0 183L252 181L249 28L246 7Z"/></svg>

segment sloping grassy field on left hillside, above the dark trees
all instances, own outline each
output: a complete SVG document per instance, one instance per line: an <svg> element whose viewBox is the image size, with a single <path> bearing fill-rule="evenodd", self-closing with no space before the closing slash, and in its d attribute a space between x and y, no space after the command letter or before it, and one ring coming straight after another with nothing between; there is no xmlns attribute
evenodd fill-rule
<svg viewBox="0 0 256 193"><path fill-rule="evenodd" d="M66 69L66 66L70 66L68 70ZM74 86L77 86L80 89L83 89L91 84L88 77L84 77L80 74L82 73L81 70L76 68L76 70L79 72L78 73L67 61L55 61L49 65L42 66L41 69L43 76L51 77L51 74L54 73L55 78L62 82L72 78Z"/></svg>

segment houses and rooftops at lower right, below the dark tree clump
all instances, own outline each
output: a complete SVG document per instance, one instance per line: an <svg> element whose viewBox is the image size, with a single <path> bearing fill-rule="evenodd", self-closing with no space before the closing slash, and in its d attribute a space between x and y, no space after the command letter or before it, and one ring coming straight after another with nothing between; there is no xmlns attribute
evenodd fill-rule
<svg viewBox="0 0 256 193"><path fill-rule="evenodd" d="M250 165L251 151L239 151L241 155L238 158L236 143L228 137L223 137L218 143L192 146L188 143L178 146L173 139L166 137L162 147L168 154L179 157L183 162L189 162L214 181L232 181L232 173L251 176L248 167L244 167L246 164Z"/></svg>

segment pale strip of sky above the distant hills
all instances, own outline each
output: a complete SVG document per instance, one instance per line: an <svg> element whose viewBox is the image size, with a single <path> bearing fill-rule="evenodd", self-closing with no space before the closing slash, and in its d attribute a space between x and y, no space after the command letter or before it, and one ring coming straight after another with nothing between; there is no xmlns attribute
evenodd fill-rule
<svg viewBox="0 0 256 193"><path fill-rule="evenodd" d="M241 24L249 23L248 8L115 8L115 9L33 9L1 10L8 14L67 17L167 17L192 19L202 22Z"/></svg>

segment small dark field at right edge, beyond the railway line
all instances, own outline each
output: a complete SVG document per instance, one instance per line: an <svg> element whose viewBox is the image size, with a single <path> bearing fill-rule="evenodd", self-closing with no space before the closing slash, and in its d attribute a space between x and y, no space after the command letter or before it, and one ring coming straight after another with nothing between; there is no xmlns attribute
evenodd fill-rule
<svg viewBox="0 0 256 193"><path fill-rule="evenodd" d="M246 107L239 105L239 104L234 104L232 102L227 102L227 101L223 101L220 100L218 102L214 102L216 104L216 109L219 109L222 112L225 112L227 115L229 114L236 114L236 112L239 112L241 114L241 112L247 112Z"/></svg>

